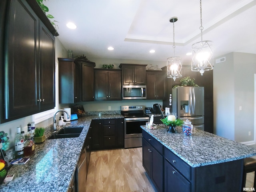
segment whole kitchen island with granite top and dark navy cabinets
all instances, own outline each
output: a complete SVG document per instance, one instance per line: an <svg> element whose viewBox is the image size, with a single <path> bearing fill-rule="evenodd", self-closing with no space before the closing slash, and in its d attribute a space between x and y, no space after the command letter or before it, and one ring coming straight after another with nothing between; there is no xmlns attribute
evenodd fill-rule
<svg viewBox="0 0 256 192"><path fill-rule="evenodd" d="M141 128L143 166L158 191L241 191L243 159L256 149L199 129Z"/></svg>

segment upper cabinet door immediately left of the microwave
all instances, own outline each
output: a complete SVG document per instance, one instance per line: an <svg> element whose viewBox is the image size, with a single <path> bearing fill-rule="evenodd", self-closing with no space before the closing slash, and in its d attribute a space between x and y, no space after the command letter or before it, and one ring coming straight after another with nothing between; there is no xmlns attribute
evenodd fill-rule
<svg viewBox="0 0 256 192"><path fill-rule="evenodd" d="M121 71L108 71L108 99L122 100Z"/></svg>

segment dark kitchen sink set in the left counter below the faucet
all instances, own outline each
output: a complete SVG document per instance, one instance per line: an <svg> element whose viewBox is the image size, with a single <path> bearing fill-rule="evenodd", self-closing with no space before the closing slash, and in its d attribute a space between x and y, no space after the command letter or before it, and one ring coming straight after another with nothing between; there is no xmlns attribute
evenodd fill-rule
<svg viewBox="0 0 256 192"><path fill-rule="evenodd" d="M59 132L53 133L48 139L61 139L79 137L84 127L66 127Z"/></svg>

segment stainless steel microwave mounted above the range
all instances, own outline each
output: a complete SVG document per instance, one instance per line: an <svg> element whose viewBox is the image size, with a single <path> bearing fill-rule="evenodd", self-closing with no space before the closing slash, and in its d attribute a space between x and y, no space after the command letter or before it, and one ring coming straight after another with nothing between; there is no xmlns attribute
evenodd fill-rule
<svg viewBox="0 0 256 192"><path fill-rule="evenodd" d="M123 85L123 99L146 99L146 85Z"/></svg>

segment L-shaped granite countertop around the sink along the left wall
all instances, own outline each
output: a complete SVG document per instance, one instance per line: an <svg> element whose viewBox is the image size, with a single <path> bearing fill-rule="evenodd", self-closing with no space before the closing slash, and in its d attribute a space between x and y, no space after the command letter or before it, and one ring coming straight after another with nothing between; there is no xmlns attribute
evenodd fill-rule
<svg viewBox="0 0 256 192"><path fill-rule="evenodd" d="M36 144L35 154L24 165L14 165L8 175L14 174L11 182L0 185L3 192L66 192L76 170L90 123L95 119L124 118L122 115L83 116L64 127L80 127L77 138L46 139Z"/></svg>

